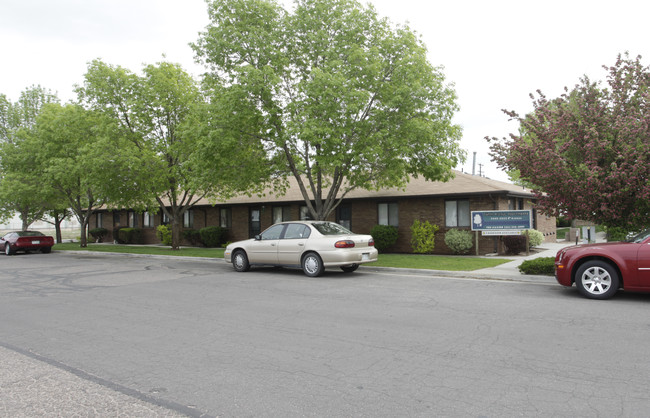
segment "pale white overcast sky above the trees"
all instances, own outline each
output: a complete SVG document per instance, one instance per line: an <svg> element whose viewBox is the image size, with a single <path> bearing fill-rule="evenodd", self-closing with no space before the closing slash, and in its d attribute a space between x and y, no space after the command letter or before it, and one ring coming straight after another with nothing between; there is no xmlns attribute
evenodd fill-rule
<svg viewBox="0 0 650 418"><path fill-rule="evenodd" d="M291 4L290 0L284 1ZM368 2L363 1L366 4ZM602 79L619 53L650 65L641 0L371 0L393 23L421 35L433 65L458 93L467 162L458 169L507 180L488 156L485 136L516 132L501 109L532 109L529 94L556 97L582 75ZM40 84L74 98L87 63L101 58L139 72L142 64L178 62L197 77L188 43L208 24L203 0L0 0L0 93L18 99Z"/></svg>

